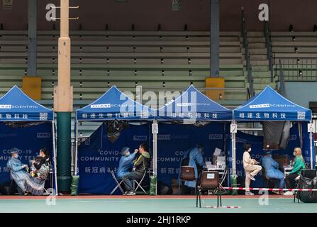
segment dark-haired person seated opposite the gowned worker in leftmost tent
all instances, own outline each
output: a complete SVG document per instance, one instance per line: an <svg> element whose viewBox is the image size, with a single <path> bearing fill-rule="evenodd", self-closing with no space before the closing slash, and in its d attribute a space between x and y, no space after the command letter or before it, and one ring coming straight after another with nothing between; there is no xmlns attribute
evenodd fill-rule
<svg viewBox="0 0 317 227"><path fill-rule="evenodd" d="M50 172L46 148L40 150L40 155L32 162L30 178L26 179L26 193L40 196L44 194L45 180Z"/></svg>

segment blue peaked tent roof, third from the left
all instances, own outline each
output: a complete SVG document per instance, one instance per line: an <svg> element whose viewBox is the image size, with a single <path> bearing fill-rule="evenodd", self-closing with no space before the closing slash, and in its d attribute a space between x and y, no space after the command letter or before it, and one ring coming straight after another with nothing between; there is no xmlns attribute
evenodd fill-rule
<svg viewBox="0 0 317 227"><path fill-rule="evenodd" d="M156 116L159 121L228 121L232 120L232 111L191 85L175 100L157 109Z"/></svg>

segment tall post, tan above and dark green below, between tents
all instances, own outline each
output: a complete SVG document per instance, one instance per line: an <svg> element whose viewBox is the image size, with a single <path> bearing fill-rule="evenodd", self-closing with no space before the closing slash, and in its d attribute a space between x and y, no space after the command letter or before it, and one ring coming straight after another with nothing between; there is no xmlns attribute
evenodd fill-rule
<svg viewBox="0 0 317 227"><path fill-rule="evenodd" d="M69 0L60 0L58 83L54 89L57 112L57 182L59 192L69 192L71 176L71 121L73 89L70 86Z"/></svg>

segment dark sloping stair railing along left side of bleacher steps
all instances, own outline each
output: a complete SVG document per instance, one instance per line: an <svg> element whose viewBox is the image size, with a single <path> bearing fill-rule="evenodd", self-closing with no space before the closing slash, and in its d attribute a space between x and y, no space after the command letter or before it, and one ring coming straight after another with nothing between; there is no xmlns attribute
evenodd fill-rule
<svg viewBox="0 0 317 227"><path fill-rule="evenodd" d="M249 43L248 43L248 32L245 26L245 16L244 16L244 9L241 11L241 35L243 37L243 48L245 49L245 62L248 72L248 83L249 83L249 91L251 96L255 94L254 92L254 84L253 84L253 77L252 77L252 65L250 62L250 51L249 51Z"/></svg>

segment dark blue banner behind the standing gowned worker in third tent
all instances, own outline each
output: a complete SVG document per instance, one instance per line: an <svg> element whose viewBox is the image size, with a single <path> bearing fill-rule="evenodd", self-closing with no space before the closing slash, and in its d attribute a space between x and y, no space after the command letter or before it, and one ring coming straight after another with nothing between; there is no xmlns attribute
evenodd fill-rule
<svg viewBox="0 0 317 227"><path fill-rule="evenodd" d="M194 148L197 143L204 144L205 161L212 159L216 148L227 150L225 141L227 137L230 138L229 127L229 123L209 123L201 127L160 123L157 135L157 181L170 185L172 179L178 179L184 152Z"/></svg>

